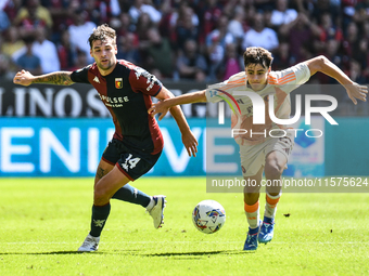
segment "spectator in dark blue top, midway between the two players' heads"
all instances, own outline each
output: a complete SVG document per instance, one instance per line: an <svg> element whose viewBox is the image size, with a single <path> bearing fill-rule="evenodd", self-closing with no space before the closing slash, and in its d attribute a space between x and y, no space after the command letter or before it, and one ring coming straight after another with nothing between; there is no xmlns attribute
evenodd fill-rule
<svg viewBox="0 0 369 276"><path fill-rule="evenodd" d="M177 58L177 70L181 79L205 81L207 64L199 52L198 42L186 40L183 53Z"/></svg>

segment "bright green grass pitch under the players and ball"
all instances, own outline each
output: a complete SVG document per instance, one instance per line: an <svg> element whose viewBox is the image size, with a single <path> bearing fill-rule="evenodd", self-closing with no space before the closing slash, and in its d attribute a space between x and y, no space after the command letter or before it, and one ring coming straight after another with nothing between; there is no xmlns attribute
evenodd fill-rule
<svg viewBox="0 0 369 276"><path fill-rule="evenodd" d="M207 194L204 178L133 184L167 196L164 227L154 229L143 208L112 200L99 251L77 253L92 179L0 179L0 275L369 275L369 194L284 193L273 240L243 252L242 194ZM213 235L191 221L204 199L227 212Z"/></svg>

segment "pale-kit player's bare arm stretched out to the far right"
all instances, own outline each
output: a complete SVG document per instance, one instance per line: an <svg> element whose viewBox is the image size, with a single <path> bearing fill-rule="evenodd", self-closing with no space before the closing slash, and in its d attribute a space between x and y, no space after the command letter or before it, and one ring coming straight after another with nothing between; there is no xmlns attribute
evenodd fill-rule
<svg viewBox="0 0 369 276"><path fill-rule="evenodd" d="M368 88L360 86L348 78L335 64L330 62L326 56L319 55L305 62L309 67L310 75L321 71L336 81L339 81L347 91L349 98L357 104L356 98L366 102Z"/></svg>

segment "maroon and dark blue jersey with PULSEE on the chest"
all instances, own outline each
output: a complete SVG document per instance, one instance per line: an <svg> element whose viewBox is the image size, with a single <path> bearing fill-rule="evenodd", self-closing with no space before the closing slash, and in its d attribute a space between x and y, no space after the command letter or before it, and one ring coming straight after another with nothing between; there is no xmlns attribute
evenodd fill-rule
<svg viewBox="0 0 369 276"><path fill-rule="evenodd" d="M74 82L91 83L113 117L114 137L126 146L155 155L164 140L154 117L148 114L151 96L162 90L155 76L127 61L118 61L114 70L102 76L96 63L73 71Z"/></svg>

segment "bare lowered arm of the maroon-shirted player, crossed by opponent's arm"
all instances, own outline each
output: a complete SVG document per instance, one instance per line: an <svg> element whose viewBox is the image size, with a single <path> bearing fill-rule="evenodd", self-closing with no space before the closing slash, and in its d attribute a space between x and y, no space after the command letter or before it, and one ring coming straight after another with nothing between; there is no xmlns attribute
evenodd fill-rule
<svg viewBox="0 0 369 276"><path fill-rule="evenodd" d="M165 87L162 87L162 90L161 92L158 92L156 97L162 101L169 101L170 98L175 98L174 94L169 90L167 90ZM170 108L170 114L175 118L178 124L178 128L180 132L182 133L182 143L187 149L187 153L189 154L189 156L192 155L193 157L195 157L198 153L199 143L195 136L193 135L193 133L191 132L190 127L187 123L187 120L184 118L182 110L180 109L179 106L174 106Z"/></svg>

